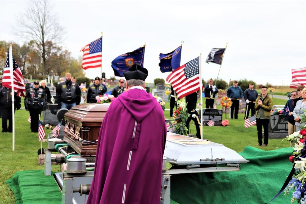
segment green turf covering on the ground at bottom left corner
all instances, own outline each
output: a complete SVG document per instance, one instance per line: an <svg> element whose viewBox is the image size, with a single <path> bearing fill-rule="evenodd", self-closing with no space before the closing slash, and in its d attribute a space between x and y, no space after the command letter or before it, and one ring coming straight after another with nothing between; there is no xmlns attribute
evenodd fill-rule
<svg viewBox="0 0 306 204"><path fill-rule="evenodd" d="M19 171L5 183L14 192L16 203L56 204L62 202L62 192L52 176L43 170Z"/></svg>

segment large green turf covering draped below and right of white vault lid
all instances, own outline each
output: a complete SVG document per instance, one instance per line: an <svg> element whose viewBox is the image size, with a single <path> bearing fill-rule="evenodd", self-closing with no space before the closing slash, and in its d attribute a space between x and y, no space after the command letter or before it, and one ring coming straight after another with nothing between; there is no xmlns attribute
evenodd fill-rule
<svg viewBox="0 0 306 204"><path fill-rule="evenodd" d="M240 171L175 174L171 199L178 203L268 203L284 184L292 163L293 148L264 151L245 147L239 153L250 162ZM213 178L212 178L213 177ZM273 203L290 203L291 195L279 195Z"/></svg>

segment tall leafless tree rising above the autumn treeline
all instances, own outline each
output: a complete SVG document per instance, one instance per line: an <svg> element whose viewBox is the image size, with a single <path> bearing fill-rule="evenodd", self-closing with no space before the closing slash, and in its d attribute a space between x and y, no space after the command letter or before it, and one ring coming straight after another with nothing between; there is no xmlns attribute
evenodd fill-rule
<svg viewBox="0 0 306 204"><path fill-rule="evenodd" d="M41 54L42 75L46 76L47 42L56 45L63 35L63 27L57 22L53 6L47 0L29 1L25 13L18 19L17 28L15 35L35 42Z"/></svg>

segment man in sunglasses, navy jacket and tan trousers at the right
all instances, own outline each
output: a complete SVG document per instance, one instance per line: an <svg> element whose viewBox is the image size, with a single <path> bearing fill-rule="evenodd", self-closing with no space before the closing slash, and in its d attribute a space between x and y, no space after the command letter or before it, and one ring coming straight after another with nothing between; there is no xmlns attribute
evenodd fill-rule
<svg viewBox="0 0 306 204"><path fill-rule="evenodd" d="M293 109L297 105L297 95L297 91L291 91L291 98L287 101L283 110L283 115L288 120L288 135L291 135L293 132L297 132L297 126L295 126L295 120L292 115Z"/></svg>

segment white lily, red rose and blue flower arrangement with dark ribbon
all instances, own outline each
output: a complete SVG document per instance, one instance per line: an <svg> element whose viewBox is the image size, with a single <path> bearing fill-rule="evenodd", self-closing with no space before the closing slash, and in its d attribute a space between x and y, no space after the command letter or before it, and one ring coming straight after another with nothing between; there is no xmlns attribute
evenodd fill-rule
<svg viewBox="0 0 306 204"><path fill-rule="evenodd" d="M303 109L304 110L304 109ZM306 123L306 111L300 116L301 123ZM291 181L285 188L285 195L293 189L291 203L306 203L306 125L301 131L294 132L283 140L287 140L294 144L293 154L289 156L289 160L294 163L294 173Z"/></svg>

